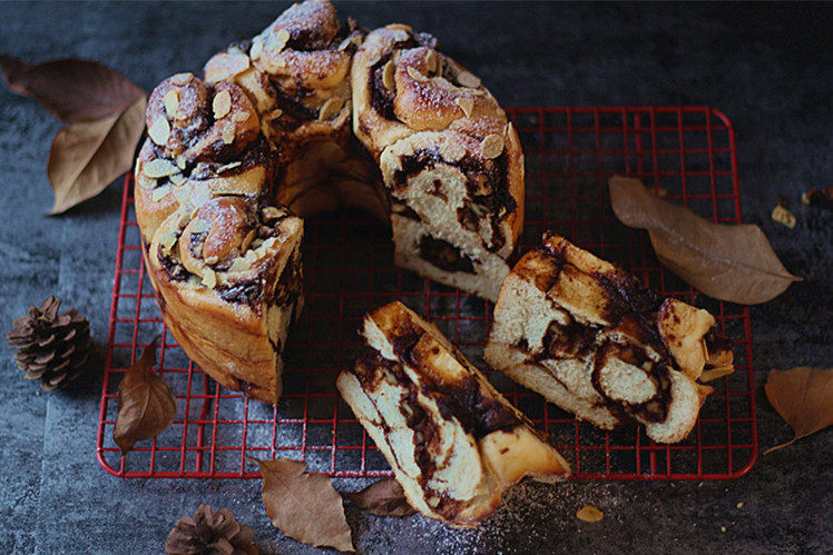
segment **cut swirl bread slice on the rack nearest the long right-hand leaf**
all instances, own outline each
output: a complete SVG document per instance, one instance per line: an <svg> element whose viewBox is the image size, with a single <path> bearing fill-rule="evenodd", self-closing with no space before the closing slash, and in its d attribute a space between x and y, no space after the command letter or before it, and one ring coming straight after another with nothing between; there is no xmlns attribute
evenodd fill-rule
<svg viewBox="0 0 833 555"><path fill-rule="evenodd" d="M663 298L556 235L523 256L494 307L484 359L578 418L675 443L695 425L707 366L732 366L706 310Z"/></svg>

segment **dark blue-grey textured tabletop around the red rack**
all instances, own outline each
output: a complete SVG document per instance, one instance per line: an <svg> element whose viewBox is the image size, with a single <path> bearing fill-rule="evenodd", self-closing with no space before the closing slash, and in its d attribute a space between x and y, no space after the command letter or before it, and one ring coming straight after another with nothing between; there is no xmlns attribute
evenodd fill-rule
<svg viewBox="0 0 833 555"><path fill-rule="evenodd" d="M284 7L255 4L3 3L0 52L27 60L100 60L147 90L196 70ZM737 131L744 218L805 280L754 307L753 348L763 448L792 435L763 396L771 368L831 366L833 215L801 205L830 185L830 6L340 4L373 27L402 21L435 33L507 105L708 103ZM45 168L59 123L0 89L0 328L49 294L107 337L120 187L50 218ZM770 212L780 197L798 224ZM97 368L101 359L97 360ZM268 523L259 480L126 480L95 459L99 373L41 395L0 357L0 551L158 552L200 502L252 525L264 552L303 549ZM381 519L347 508L363 552L821 552L833 545L830 432L758 459L724 483L525 485L471 532L420 516ZM342 489L357 484L342 482ZM585 503L605 519L575 518Z"/></svg>

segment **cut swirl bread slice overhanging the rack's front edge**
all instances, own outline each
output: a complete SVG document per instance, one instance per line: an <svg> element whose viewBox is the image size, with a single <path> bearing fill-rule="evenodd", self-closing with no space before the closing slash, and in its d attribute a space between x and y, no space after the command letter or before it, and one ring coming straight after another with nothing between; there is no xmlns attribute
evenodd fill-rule
<svg viewBox="0 0 833 555"><path fill-rule="evenodd" d="M370 313L363 335L365 353L337 387L420 513L474 526L525 476L569 475L529 420L402 303Z"/></svg>

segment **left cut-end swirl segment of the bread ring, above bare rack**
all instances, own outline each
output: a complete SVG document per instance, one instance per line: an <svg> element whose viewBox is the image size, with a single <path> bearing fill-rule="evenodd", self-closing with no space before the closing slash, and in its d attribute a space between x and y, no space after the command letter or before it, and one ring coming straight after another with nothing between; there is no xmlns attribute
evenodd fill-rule
<svg viewBox="0 0 833 555"><path fill-rule="evenodd" d="M174 338L223 386L275 404L283 347L301 313L303 221L241 196L169 216L147 251Z"/></svg>

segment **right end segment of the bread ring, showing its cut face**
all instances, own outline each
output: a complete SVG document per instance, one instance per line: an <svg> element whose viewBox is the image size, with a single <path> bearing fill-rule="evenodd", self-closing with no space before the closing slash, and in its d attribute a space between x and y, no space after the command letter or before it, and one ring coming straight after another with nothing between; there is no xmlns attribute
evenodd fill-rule
<svg viewBox="0 0 833 555"><path fill-rule="evenodd" d="M392 24L353 60L353 129L379 160L396 264L496 300L523 222L523 155L498 101Z"/></svg>

